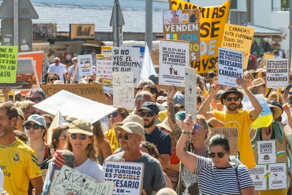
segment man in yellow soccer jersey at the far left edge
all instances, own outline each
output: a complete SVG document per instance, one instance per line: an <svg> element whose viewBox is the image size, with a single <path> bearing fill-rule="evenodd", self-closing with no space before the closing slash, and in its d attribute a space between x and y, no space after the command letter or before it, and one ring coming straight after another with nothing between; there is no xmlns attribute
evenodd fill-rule
<svg viewBox="0 0 292 195"><path fill-rule="evenodd" d="M42 193L43 180L36 152L15 138L13 127L17 109L11 103L0 104L0 168L4 175L4 190L10 195L27 195L31 181L36 195Z"/></svg>

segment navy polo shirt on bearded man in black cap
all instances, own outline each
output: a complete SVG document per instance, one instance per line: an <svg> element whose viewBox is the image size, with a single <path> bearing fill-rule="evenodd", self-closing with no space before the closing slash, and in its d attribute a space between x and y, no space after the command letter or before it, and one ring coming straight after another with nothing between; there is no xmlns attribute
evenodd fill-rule
<svg viewBox="0 0 292 195"><path fill-rule="evenodd" d="M157 126L149 135L145 133L146 141L154 143L159 154L169 154L171 156L171 137L168 133L161 131Z"/></svg>

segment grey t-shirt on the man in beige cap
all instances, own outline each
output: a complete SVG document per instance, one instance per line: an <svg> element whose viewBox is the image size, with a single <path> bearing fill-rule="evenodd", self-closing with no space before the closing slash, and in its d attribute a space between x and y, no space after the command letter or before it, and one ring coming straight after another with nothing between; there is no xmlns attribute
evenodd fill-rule
<svg viewBox="0 0 292 195"><path fill-rule="evenodd" d="M121 157L121 153L109 156L105 161L126 161ZM166 180L163 175L162 167L159 161L149 154L144 155L131 162L144 162L144 178L143 178L143 189L145 189L147 195L151 195L152 191L158 191L166 186Z"/></svg>

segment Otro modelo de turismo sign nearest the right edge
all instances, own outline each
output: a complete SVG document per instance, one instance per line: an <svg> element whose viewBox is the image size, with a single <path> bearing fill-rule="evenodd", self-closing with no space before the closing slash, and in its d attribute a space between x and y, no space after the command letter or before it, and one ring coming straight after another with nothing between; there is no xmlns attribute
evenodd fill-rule
<svg viewBox="0 0 292 195"><path fill-rule="evenodd" d="M267 88L286 88L289 84L289 59L267 59Z"/></svg>

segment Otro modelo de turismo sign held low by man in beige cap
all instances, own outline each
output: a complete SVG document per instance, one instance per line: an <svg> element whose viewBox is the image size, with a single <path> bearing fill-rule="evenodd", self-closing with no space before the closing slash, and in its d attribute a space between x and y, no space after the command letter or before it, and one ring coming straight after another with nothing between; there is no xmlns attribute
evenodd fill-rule
<svg viewBox="0 0 292 195"><path fill-rule="evenodd" d="M141 194L144 163L105 161L105 180L115 182L113 195Z"/></svg>

